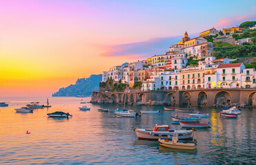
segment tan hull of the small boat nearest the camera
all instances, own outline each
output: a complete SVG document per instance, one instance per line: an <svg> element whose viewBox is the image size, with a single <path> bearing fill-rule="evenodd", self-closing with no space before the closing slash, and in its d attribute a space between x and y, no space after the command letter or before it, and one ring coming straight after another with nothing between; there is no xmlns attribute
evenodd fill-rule
<svg viewBox="0 0 256 165"><path fill-rule="evenodd" d="M163 139L159 139L158 140L159 144L161 146L167 147L167 148L177 148L177 149L186 149L186 150L194 150L195 148L197 148L197 144L195 143L174 143L173 141L168 140L168 142L166 142L166 140Z"/></svg>

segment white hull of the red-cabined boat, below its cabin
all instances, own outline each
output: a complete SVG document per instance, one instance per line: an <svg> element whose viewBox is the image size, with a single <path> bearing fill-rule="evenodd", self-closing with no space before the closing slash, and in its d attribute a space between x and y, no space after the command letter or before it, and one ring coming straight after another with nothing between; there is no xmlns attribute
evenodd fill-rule
<svg viewBox="0 0 256 165"><path fill-rule="evenodd" d="M173 137L173 132L150 132L150 131L141 131L135 129L138 139L141 140L158 140L160 137ZM178 133L179 140L193 140L193 131L188 131L187 133Z"/></svg>

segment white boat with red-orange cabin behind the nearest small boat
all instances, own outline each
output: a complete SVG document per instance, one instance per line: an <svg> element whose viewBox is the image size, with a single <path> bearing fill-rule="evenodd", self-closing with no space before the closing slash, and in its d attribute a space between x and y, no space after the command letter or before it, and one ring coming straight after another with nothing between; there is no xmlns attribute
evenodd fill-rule
<svg viewBox="0 0 256 165"><path fill-rule="evenodd" d="M132 127L136 132L138 139L142 140L158 140L160 137L173 137L176 131L180 140L193 140L193 130L175 130L169 129L168 125L155 125L153 129L137 129Z"/></svg>

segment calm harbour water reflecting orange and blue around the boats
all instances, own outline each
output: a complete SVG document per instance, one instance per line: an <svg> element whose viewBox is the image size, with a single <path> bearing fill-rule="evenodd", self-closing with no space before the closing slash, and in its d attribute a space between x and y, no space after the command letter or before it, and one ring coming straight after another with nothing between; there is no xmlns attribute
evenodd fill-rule
<svg viewBox="0 0 256 165"><path fill-rule="evenodd" d="M49 109L34 113L16 113L14 108L46 98L0 98L10 101L0 107L0 164L256 164L256 109L243 109L237 119L224 119L220 109L197 108L209 113L213 127L199 129L196 151L179 151L159 146L158 142L137 140L132 126L152 128L167 124L173 129L170 115L162 107L132 107L139 110L160 110L159 115L143 114L138 118L116 118L113 112L122 105L86 104L90 111L79 111L81 98L49 98ZM83 98L90 101L90 98ZM48 118L46 113L69 112L72 118ZM178 113L188 115L188 113ZM27 135L26 131L31 134Z"/></svg>

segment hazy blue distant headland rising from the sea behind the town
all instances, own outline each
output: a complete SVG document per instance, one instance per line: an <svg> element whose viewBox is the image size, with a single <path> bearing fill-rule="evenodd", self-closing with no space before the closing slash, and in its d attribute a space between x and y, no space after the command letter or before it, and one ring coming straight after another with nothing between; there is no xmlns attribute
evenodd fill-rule
<svg viewBox="0 0 256 165"><path fill-rule="evenodd" d="M102 74L92 74L89 78L78 78L75 85L62 87L52 96L90 96L92 91L99 90Z"/></svg>

